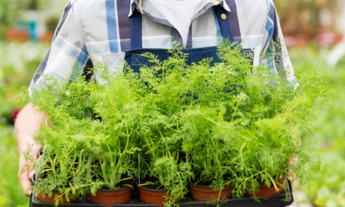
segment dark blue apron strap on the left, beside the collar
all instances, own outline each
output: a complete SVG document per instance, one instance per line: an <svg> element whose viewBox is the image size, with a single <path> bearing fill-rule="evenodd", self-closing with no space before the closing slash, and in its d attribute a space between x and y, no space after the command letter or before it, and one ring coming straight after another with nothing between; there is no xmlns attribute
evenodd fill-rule
<svg viewBox="0 0 345 207"><path fill-rule="evenodd" d="M130 50L143 48L143 34L141 27L141 13L135 9L130 17Z"/></svg>

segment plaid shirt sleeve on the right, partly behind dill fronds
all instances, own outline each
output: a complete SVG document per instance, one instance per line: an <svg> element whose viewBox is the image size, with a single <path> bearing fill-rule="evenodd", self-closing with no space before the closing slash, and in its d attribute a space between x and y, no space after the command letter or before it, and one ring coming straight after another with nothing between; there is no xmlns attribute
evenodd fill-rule
<svg viewBox="0 0 345 207"><path fill-rule="evenodd" d="M273 1L270 2L266 32L268 41L264 47L265 58L262 58L265 61L261 63L267 64L271 72L284 75L289 82L297 81Z"/></svg>

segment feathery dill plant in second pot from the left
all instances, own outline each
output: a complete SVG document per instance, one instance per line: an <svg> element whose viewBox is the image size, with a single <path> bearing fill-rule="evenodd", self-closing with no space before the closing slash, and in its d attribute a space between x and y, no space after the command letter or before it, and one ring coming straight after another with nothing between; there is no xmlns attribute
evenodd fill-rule
<svg viewBox="0 0 345 207"><path fill-rule="evenodd" d="M128 186L120 186L121 181L134 180L138 176L137 153L141 149L135 131L139 126L139 105L132 96L123 77L102 85L101 92L90 92L90 99L95 102L95 113L101 117L101 121L91 121L95 122L96 128L85 132L85 135L98 137L86 137L85 140L90 161L96 161L99 166L98 170L94 168L92 171L94 177L100 178L97 179L99 184L96 182L95 188L91 188L92 193L99 186L109 189Z"/></svg>

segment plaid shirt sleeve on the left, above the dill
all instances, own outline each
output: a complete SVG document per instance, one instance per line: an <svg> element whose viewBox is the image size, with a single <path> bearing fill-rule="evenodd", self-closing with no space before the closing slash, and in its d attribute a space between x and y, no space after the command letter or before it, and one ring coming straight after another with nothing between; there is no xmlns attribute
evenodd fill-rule
<svg viewBox="0 0 345 207"><path fill-rule="evenodd" d="M78 63L81 69L86 65L88 58L86 43L79 30L70 1L61 14L52 45L30 83L30 95L34 89L43 86L46 81L44 76L55 77L58 81L68 81L75 63Z"/></svg>

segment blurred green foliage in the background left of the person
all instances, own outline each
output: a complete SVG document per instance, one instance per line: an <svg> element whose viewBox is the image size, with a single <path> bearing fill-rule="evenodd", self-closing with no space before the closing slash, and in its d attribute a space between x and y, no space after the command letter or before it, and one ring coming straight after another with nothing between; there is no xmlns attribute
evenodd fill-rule
<svg viewBox="0 0 345 207"><path fill-rule="evenodd" d="M28 86L49 45L0 42L0 206L28 206L17 172L19 155L14 136L15 113L23 107L17 99L22 86Z"/></svg>

